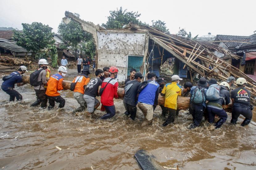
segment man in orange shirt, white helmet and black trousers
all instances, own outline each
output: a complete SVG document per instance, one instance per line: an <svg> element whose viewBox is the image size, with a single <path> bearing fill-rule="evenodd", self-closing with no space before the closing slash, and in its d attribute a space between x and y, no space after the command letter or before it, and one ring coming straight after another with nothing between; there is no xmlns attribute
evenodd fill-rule
<svg viewBox="0 0 256 170"><path fill-rule="evenodd" d="M60 93L58 91L60 90L67 90L63 89L62 81L63 77L66 76L66 73L68 72L68 69L64 66L60 66L58 69L59 73L53 74L50 77L50 80L47 82L47 89L46 89L46 95L48 97L48 110L51 110L55 106L55 101L59 104L58 108L63 108L65 105L65 100L60 96Z"/></svg>

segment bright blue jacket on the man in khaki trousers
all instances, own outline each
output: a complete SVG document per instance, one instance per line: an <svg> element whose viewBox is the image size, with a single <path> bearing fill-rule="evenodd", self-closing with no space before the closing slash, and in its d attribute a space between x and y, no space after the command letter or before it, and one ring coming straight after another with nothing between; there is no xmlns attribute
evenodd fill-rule
<svg viewBox="0 0 256 170"><path fill-rule="evenodd" d="M139 94L138 102L145 103L148 105L157 105L159 95L159 84L155 81L148 83Z"/></svg>

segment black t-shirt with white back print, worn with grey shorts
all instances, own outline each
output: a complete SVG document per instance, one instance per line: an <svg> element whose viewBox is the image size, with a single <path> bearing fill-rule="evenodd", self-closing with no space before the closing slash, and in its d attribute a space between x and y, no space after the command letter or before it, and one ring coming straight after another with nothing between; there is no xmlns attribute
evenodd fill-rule
<svg viewBox="0 0 256 170"><path fill-rule="evenodd" d="M100 85L102 85L102 80L99 77L92 79L86 86L85 95L96 97Z"/></svg>

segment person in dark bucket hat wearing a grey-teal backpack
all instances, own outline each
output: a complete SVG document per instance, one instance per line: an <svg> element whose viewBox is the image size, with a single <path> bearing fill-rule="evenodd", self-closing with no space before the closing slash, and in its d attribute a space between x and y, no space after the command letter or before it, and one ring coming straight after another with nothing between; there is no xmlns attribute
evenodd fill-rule
<svg viewBox="0 0 256 170"><path fill-rule="evenodd" d="M193 117L193 123L190 125L189 129L196 128L200 125L205 105L206 98L206 90L207 83L204 77L201 77L199 81L197 81L197 85L193 86L190 91L190 104L189 104L189 113Z"/></svg>

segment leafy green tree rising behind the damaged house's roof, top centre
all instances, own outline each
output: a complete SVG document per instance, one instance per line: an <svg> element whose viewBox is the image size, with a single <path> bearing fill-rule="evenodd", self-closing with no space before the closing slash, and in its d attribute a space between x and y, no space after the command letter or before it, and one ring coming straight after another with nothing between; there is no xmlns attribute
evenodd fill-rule
<svg viewBox="0 0 256 170"><path fill-rule="evenodd" d="M106 24L102 24L101 26L105 28L122 28L124 25L132 22L133 24L141 24L137 18L141 15L137 12L126 12L126 10L122 9L122 6L118 10L109 11L110 15L108 16L108 21Z"/></svg>

